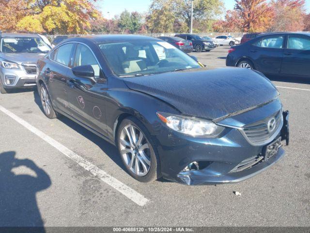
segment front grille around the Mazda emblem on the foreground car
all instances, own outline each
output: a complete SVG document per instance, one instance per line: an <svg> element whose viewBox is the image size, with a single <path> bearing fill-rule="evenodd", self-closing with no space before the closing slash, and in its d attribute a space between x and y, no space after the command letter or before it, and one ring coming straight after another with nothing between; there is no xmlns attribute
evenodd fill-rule
<svg viewBox="0 0 310 233"><path fill-rule="evenodd" d="M270 130L270 128L268 130L268 122L273 117L275 118L275 127L273 130ZM283 116L282 112L279 111L263 120L244 126L242 131L251 144L264 145L271 142L278 135L282 125Z"/></svg>

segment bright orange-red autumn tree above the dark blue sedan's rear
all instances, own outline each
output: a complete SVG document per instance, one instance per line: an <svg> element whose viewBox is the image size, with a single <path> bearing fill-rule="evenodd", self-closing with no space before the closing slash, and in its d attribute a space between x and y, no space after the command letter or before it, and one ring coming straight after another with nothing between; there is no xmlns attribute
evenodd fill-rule
<svg viewBox="0 0 310 233"><path fill-rule="evenodd" d="M244 32L264 32L273 23L274 11L266 0L235 0L234 10Z"/></svg>

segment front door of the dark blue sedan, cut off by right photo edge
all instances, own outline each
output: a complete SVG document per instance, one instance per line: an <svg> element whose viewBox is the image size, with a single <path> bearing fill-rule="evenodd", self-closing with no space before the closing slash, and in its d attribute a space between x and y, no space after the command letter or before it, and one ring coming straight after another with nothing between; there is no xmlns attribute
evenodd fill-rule
<svg viewBox="0 0 310 233"><path fill-rule="evenodd" d="M281 73L310 76L310 36L288 35Z"/></svg>

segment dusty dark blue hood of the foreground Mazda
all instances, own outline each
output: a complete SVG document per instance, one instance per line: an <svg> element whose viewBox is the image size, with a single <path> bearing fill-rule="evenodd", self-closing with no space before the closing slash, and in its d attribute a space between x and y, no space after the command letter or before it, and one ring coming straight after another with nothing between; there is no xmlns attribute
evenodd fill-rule
<svg viewBox="0 0 310 233"><path fill-rule="evenodd" d="M264 76L242 68L201 68L125 78L127 86L163 100L189 116L217 119L278 95Z"/></svg>

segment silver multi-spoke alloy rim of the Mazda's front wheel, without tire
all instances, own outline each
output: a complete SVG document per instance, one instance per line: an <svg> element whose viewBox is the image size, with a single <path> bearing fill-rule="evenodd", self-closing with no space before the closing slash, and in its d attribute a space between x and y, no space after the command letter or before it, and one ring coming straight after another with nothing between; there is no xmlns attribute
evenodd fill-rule
<svg viewBox="0 0 310 233"><path fill-rule="evenodd" d="M150 145L144 134L134 125L126 125L119 138L119 148L128 169L145 176L151 167Z"/></svg>

